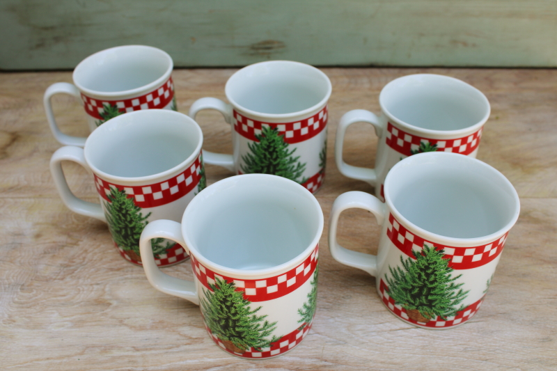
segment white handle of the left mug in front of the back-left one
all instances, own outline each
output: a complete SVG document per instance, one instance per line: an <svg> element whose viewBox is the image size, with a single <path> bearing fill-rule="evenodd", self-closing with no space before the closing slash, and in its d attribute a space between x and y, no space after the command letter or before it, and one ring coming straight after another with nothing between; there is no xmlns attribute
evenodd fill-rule
<svg viewBox="0 0 557 371"><path fill-rule="evenodd" d="M62 198L63 203L68 206L68 209L77 212L77 214L91 216L106 222L107 219L104 217L101 205L80 200L72 193L64 172L62 171L62 161L74 161L83 166L88 173L92 174L91 168L89 168L85 161L83 148L74 147L72 145L58 148L50 159L50 172L54 178L54 184L56 184L58 194L60 194L60 198Z"/></svg>

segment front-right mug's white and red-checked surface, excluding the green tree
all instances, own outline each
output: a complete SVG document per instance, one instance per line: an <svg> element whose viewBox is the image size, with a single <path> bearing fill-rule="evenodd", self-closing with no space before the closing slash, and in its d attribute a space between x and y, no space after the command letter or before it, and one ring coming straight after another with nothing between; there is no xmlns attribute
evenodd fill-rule
<svg viewBox="0 0 557 371"><path fill-rule="evenodd" d="M496 169L472 157L428 152L396 164L386 176L386 203L359 191L340 195L329 219L329 248L340 263L376 277L377 292L389 310L416 326L446 329L466 322L478 310L501 258L509 230L519 216L519 198ZM336 241L343 210L362 208L382 226L377 256L347 250ZM420 241L420 242L418 242ZM468 291L462 313L453 318L411 321L400 303L389 301L385 278L421 244L444 248L456 283ZM416 245L418 244L418 245ZM405 317L406 316L406 317Z"/></svg>

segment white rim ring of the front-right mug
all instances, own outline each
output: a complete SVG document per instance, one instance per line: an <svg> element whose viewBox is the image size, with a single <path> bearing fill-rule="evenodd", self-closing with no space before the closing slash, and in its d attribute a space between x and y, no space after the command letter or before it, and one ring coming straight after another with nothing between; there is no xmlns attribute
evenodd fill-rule
<svg viewBox="0 0 557 371"><path fill-rule="evenodd" d="M505 224L505 226L503 226L502 228L499 228L499 230L496 230L496 232L493 232L489 235L485 235L485 236L481 236L481 237L472 237L472 238L448 237L448 236L444 236L444 235L438 235L437 233L430 232L428 230L425 230L421 227L416 226L416 224L409 221L405 216L403 216L397 210L397 208L393 204L393 200L391 200L391 191L389 191L389 188L390 188L389 183L391 182L391 179L394 176L392 174L395 174L396 171L399 170L398 168L401 168L402 166L409 166L410 164L408 164L408 163L410 161L423 162L423 161L427 161L427 157L439 157L439 156L441 156L441 157L454 157L455 159L459 159L461 161L469 161L469 163L474 164L473 166L480 166L480 167L483 167L483 168L487 168L488 171L491 172L494 175L494 177L497 177L499 180L501 180L504 184L506 184L509 187L509 189L511 190L512 198L514 198L514 200L515 200L515 212L512 215L512 217L510 218L510 220L508 221L508 223ZM394 173L393 173L393 171L394 171ZM515 223L517 222L518 216L520 214L520 199L519 199L519 196L517 194L517 190L515 189L515 187L512 186L512 183L510 182L510 180L507 179L507 177L505 177L505 175L503 175L500 171L498 171L493 166L490 166L483 161L480 161L478 159L474 159L473 157L470 157L470 156L460 155L460 154L457 154L457 153L423 152L423 153L418 153L416 155L412 155L410 157L402 159L402 161L399 161L398 164L395 164L395 166L393 166L393 168L391 168L391 171L389 171L389 174L387 174L387 176L385 178L385 182L384 182L384 194L385 194L385 203L386 203L386 205L389 206L389 211L391 213L393 213L393 215L395 216L395 218L398 221L401 221L402 223L405 223L410 228L416 230L421 235L421 237L425 237L426 239L430 239L434 243L437 242L437 243L440 243L440 244L446 244L447 246L457 246L457 245L479 246L479 245L491 242L491 241L501 237L501 235L504 235L505 232L508 232L512 228L512 226L515 225Z"/></svg>

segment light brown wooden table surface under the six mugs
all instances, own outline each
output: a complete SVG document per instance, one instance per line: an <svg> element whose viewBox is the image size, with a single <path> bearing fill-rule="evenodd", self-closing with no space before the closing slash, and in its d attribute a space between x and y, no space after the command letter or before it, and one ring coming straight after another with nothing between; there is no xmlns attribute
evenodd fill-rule
<svg viewBox="0 0 557 371"><path fill-rule="evenodd" d="M176 70L178 109L199 97L225 99L235 70ZM324 68L331 78L329 151L324 187L315 195L325 221L346 191L373 189L340 175L334 136L350 109L379 110L381 88L416 72L462 79L487 95L492 114L478 159L518 191L521 213L511 230L482 308L446 331L409 326L384 308L375 278L345 267L320 246L313 328L288 354L246 361L221 351L205 332L198 306L155 290L143 269L116 252L107 226L70 212L58 197L49 159L59 148L42 94L71 72L0 74L0 369L2 370L556 370L557 369L557 70ZM68 134L86 136L81 107L54 98ZM219 113L198 117L204 148L231 152ZM372 127L353 125L345 157L372 166ZM93 179L65 164L77 196L98 202ZM207 183L231 174L207 166ZM327 224L327 223L326 223ZM377 251L379 228L363 210L340 218L339 242ZM188 263L164 269L191 277Z"/></svg>

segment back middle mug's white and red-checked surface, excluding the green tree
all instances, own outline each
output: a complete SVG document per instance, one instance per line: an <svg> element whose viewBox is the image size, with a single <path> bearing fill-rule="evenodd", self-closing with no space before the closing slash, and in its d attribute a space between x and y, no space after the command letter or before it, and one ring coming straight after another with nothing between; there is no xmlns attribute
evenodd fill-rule
<svg viewBox="0 0 557 371"><path fill-rule="evenodd" d="M237 174L242 173L243 157L255 141L244 135L253 130L254 123L256 127L261 123L278 125L285 141L291 134L303 134L307 127L320 125L317 134L307 134L308 138L291 143L289 147L295 150L293 156L299 156L299 161L306 164L302 177L308 182L304 187L315 192L324 179L320 154L326 149L327 101L331 89L327 75L311 65L292 61L255 63L228 79L225 93L230 104L217 98L201 98L191 105L189 116L196 118L203 109L215 109L223 114L233 127L233 155L205 152L205 157L219 161Z"/></svg>

